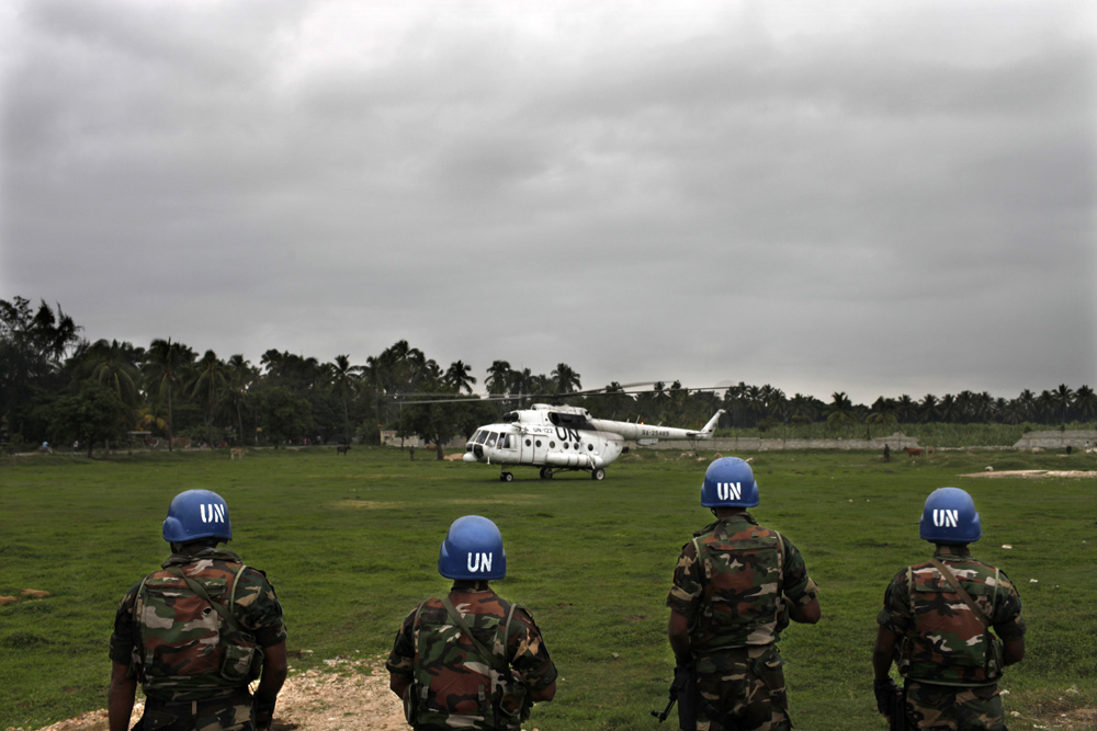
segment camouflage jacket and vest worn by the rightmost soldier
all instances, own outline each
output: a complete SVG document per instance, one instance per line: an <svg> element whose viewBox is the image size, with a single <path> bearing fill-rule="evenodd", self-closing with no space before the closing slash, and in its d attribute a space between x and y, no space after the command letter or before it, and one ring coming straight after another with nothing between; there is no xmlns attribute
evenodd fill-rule
<svg viewBox="0 0 1097 731"><path fill-rule="evenodd" d="M1000 640L1025 635L1017 589L1005 573L971 558L966 548L940 547L935 558L952 571L994 633L931 563L907 567L892 579L877 617L902 638L900 673L937 685L994 684L1002 675Z"/></svg>

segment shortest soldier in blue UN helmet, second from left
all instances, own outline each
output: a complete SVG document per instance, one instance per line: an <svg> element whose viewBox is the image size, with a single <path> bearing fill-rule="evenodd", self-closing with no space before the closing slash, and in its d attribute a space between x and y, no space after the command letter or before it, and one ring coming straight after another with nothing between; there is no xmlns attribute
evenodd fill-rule
<svg viewBox="0 0 1097 731"><path fill-rule="evenodd" d="M408 723L417 731L521 729L533 701L556 695L556 666L533 617L488 585L507 573L499 528L479 515L454 521L438 572L454 580L449 595L408 613L385 665Z"/></svg>

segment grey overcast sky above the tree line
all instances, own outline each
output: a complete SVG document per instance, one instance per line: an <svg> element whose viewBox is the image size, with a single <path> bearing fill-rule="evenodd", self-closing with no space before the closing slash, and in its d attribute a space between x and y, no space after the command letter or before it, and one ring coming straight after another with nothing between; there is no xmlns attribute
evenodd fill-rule
<svg viewBox="0 0 1097 731"><path fill-rule="evenodd" d="M1097 386L1097 3L0 4L0 298L824 401Z"/></svg>

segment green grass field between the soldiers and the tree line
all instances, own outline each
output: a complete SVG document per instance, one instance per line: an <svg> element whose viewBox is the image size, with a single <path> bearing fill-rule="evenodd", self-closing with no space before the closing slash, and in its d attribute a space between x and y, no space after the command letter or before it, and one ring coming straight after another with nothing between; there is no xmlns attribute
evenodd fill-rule
<svg viewBox="0 0 1097 731"><path fill-rule="evenodd" d="M476 513L504 534L509 575L496 589L534 615L561 671L556 700L530 728L658 728L648 711L665 705L674 664L665 598L682 544L710 521L698 504L705 465L679 455L627 455L603 482L518 470L506 486L495 468L363 447L0 462L0 594L50 593L0 607L0 729L105 706L114 609L166 558L160 522L189 488L228 501L230 548L276 586L291 652L312 651L293 667L387 653L404 614L448 585L436 561L450 522ZM942 486L972 493L984 526L974 553L1024 601L1028 658L1003 683L1007 711L1020 715L1010 728L1097 707L1097 480L960 477L988 465L1097 469L1093 455L742 456L760 486L754 515L796 544L823 590L823 620L781 643L799 729L884 728L869 667L874 617L892 574L929 556L917 521Z"/></svg>

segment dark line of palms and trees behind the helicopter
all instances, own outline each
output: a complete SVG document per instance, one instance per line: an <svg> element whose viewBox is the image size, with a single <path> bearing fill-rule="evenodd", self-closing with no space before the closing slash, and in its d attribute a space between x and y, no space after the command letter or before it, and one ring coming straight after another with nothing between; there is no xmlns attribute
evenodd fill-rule
<svg viewBox="0 0 1097 731"><path fill-rule="evenodd" d="M43 442L94 445L135 437L177 437L207 445L376 444L381 430L417 434L431 444L468 436L506 411L534 402L584 406L599 418L698 427L717 410L719 427L767 431L780 425L1002 423L1065 426L1097 416L1097 396L1065 384L1016 398L961 391L920 399L902 395L857 404L842 391L823 401L787 396L770 385L739 382L689 389L676 380L633 391L612 381L584 392L566 363L548 374L494 361L484 389L470 364L443 367L400 340L364 363L330 362L272 349L258 364L242 355L201 355L168 338L148 347L116 340L89 342L60 306L0 299L0 442L14 449ZM438 452L441 456L441 450Z"/></svg>

